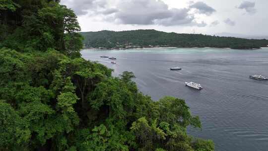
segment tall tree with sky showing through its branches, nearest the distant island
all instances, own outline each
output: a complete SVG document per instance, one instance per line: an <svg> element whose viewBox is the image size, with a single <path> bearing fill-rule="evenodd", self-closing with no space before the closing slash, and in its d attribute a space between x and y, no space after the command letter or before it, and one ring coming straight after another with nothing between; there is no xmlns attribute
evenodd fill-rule
<svg viewBox="0 0 268 151"><path fill-rule="evenodd" d="M56 49L65 52L70 57L80 57L79 51L82 48L82 36L78 31L81 30L77 21L77 16L71 9L57 2L50 2L45 8L42 8L38 15L48 27L51 27Z"/></svg>

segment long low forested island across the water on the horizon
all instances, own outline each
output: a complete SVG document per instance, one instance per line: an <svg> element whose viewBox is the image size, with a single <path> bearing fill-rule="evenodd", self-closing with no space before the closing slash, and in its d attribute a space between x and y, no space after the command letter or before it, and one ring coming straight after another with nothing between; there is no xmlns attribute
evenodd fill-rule
<svg viewBox="0 0 268 151"><path fill-rule="evenodd" d="M80 32L84 48L133 49L153 47L214 47L232 49L260 49L267 47L266 39L243 39L203 34L167 33L157 30Z"/></svg>

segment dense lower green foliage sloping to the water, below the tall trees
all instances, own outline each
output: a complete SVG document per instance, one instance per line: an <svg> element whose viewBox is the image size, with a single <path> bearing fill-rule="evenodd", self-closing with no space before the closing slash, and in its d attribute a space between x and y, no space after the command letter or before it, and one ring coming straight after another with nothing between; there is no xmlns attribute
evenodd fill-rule
<svg viewBox="0 0 268 151"><path fill-rule="evenodd" d="M0 50L0 150L213 151L184 100L152 101L131 80L56 50Z"/></svg>

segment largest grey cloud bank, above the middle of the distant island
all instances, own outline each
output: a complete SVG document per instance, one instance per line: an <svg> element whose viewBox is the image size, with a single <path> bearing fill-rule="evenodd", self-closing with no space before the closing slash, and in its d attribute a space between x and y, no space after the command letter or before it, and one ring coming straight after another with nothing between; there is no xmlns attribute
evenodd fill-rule
<svg viewBox="0 0 268 151"><path fill-rule="evenodd" d="M188 25L206 26L206 23L197 23L194 14L190 14L191 8L172 8L162 0L128 0L120 3L115 13L115 20L122 24L150 25L157 24L163 26ZM207 13L206 11L205 13ZM204 13L204 11L200 11Z"/></svg>

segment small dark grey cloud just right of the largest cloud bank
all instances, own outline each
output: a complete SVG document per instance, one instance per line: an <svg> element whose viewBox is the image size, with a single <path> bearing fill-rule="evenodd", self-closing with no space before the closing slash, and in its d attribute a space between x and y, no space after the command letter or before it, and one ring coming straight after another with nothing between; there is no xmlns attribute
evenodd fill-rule
<svg viewBox="0 0 268 151"><path fill-rule="evenodd" d="M190 8L196 8L199 13L211 15L216 10L202 1L198 1L190 5Z"/></svg>

